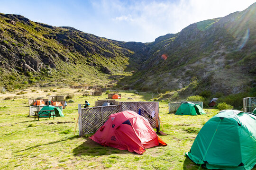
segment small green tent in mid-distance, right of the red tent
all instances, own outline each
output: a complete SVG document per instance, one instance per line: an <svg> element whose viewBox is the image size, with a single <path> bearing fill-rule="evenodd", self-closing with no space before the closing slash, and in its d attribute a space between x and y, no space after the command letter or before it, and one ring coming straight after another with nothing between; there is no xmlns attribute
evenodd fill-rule
<svg viewBox="0 0 256 170"><path fill-rule="evenodd" d="M184 102L178 108L175 115L200 115L205 114L199 104L194 104L192 102Z"/></svg>

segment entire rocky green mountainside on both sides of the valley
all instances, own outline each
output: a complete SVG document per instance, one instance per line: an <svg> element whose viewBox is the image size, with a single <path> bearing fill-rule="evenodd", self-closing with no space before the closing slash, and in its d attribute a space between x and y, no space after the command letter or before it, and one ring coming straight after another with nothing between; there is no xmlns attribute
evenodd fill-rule
<svg viewBox="0 0 256 170"><path fill-rule="evenodd" d="M155 42L119 42L0 13L0 87L104 85L163 93L256 86L256 3ZM182 91L183 90L183 91Z"/></svg>

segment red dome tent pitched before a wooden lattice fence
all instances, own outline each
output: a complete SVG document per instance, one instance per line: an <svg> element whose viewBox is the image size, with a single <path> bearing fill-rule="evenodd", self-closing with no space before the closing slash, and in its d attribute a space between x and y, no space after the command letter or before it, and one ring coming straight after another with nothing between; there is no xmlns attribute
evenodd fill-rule
<svg viewBox="0 0 256 170"><path fill-rule="evenodd" d="M130 110L110 115L90 139L103 146L138 154L144 153L146 148L167 145L156 135L146 118Z"/></svg>

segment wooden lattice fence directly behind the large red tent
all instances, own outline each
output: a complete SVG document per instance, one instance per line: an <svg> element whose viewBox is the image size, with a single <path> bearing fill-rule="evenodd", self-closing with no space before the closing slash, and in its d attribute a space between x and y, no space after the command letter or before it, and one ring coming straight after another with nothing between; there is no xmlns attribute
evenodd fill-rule
<svg viewBox="0 0 256 170"><path fill-rule="evenodd" d="M138 113L140 109L141 116L148 119L149 124L153 128L160 124L158 119L159 102L119 102L119 105L113 106L82 107L83 104L78 105L78 113L80 114L79 136L96 132L108 120L111 114L125 110L132 110ZM151 115L153 111L155 111L155 117L151 118L148 114Z"/></svg>

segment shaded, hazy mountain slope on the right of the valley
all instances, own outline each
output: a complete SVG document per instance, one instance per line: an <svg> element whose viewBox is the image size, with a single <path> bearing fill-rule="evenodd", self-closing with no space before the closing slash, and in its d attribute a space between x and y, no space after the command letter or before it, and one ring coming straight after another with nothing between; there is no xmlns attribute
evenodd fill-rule
<svg viewBox="0 0 256 170"><path fill-rule="evenodd" d="M230 94L256 86L255 18L256 3L244 11L158 37L142 69L124 81L137 89L155 92L182 89L192 80L198 85L189 92Z"/></svg>

